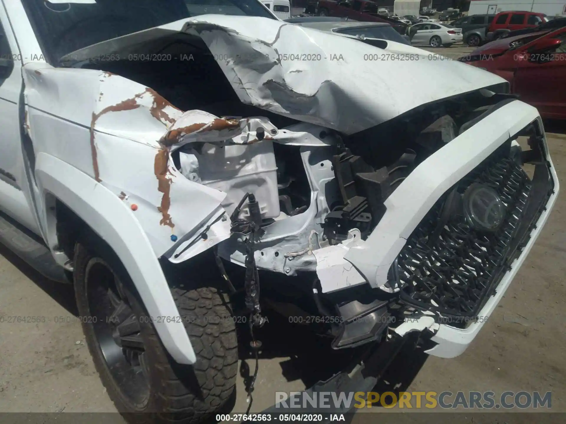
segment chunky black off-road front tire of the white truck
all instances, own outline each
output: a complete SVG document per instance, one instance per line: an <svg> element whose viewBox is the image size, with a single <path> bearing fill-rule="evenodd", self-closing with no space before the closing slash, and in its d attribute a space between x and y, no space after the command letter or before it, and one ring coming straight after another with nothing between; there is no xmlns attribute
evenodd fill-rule
<svg viewBox="0 0 566 424"><path fill-rule="evenodd" d="M235 323L216 288L171 288L196 354L193 366L177 364L166 352L125 268L113 251L95 237L75 246L74 285L79 315L89 317L87 265L100 258L121 280L131 310L140 319L149 380L145 405L132 403L121 391L102 354L93 323L82 320L83 332L96 370L110 399L130 423L197 424L221 412L233 395L238 367ZM96 259L95 259L96 260ZM92 269L92 268L91 268ZM146 322L148 321L148 322Z"/></svg>

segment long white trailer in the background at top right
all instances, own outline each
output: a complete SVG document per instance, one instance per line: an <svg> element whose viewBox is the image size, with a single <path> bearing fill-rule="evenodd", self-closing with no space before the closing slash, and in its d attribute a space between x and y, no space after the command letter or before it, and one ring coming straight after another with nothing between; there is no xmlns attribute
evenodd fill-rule
<svg viewBox="0 0 566 424"><path fill-rule="evenodd" d="M547 16L566 16L566 0L471 0L468 15L494 15L506 10L538 12Z"/></svg>

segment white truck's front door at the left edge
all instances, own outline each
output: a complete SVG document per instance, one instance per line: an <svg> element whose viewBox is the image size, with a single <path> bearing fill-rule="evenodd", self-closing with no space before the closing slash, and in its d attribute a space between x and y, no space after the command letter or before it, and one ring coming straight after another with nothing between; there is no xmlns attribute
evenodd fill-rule
<svg viewBox="0 0 566 424"><path fill-rule="evenodd" d="M22 154L22 83L22 55L6 11L0 8L0 210L40 234L28 202L29 185Z"/></svg>

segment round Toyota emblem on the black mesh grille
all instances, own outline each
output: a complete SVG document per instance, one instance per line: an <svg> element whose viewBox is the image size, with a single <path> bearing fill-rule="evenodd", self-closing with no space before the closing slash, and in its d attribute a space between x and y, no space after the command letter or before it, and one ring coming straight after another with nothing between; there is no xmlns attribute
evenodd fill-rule
<svg viewBox="0 0 566 424"><path fill-rule="evenodd" d="M477 230L495 231L505 215L499 194L485 184L472 184L464 193L464 213Z"/></svg>

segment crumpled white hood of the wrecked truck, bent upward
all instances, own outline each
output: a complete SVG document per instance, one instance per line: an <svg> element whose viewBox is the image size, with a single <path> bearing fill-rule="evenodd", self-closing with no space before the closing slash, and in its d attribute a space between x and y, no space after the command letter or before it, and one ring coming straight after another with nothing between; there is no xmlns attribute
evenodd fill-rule
<svg viewBox="0 0 566 424"><path fill-rule="evenodd" d="M199 36L243 103L352 134L417 106L505 80L388 41L386 50L329 32L250 16L202 15L71 53L110 53L152 34ZM92 55L90 57L92 57Z"/></svg>

